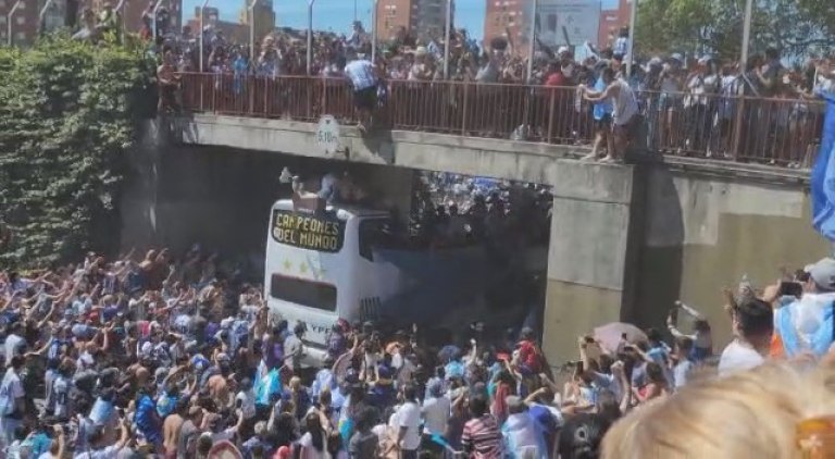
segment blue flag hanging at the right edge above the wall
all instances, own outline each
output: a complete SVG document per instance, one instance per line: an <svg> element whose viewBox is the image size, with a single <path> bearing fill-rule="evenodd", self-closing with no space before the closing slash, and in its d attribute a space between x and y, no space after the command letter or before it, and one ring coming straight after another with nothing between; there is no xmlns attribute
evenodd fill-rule
<svg viewBox="0 0 835 459"><path fill-rule="evenodd" d="M820 96L826 101L826 115L811 176L812 226L835 243L835 94Z"/></svg>

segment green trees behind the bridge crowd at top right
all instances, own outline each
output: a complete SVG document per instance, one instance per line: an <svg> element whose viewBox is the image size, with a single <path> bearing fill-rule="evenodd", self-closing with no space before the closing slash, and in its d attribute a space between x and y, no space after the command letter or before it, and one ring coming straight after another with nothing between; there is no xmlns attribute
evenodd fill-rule
<svg viewBox="0 0 835 459"><path fill-rule="evenodd" d="M712 53L735 60L743 39L745 0L639 0L637 52ZM801 58L835 46L835 2L755 0L750 53L775 47Z"/></svg>

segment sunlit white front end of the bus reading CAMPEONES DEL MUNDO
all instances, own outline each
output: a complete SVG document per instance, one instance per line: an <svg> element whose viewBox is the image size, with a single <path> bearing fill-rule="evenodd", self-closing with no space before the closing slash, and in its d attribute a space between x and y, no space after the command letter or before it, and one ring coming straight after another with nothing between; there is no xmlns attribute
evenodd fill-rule
<svg viewBox="0 0 835 459"><path fill-rule="evenodd" d="M264 273L271 311L290 324L308 325L306 342L314 346L308 353L324 352L327 334L339 318L377 319L382 302L399 288L397 268L373 262L361 236L388 224L388 213L314 208L299 201L294 206L290 199L273 206Z"/></svg>

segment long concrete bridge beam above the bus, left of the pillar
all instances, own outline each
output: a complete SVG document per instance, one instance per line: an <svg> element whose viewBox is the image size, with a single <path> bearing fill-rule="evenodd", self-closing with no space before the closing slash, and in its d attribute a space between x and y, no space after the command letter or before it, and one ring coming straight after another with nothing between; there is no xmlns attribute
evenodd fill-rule
<svg viewBox="0 0 835 459"><path fill-rule="evenodd" d="M315 144L315 124L283 120L195 114L174 125L185 145L227 146L309 158L388 164L553 185L561 158L585 151L575 147L479 139L453 135L385 132L360 136L354 127L340 129L341 151L326 154Z"/></svg>

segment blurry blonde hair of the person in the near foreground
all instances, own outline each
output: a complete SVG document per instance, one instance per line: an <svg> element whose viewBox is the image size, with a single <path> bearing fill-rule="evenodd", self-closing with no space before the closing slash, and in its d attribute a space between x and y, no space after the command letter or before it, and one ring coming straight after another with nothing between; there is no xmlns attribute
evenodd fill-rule
<svg viewBox="0 0 835 459"><path fill-rule="evenodd" d="M602 458L800 458L797 423L835 414L833 385L833 367L778 363L688 385L615 423Z"/></svg>

